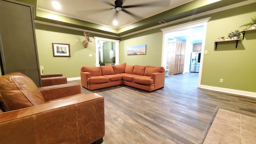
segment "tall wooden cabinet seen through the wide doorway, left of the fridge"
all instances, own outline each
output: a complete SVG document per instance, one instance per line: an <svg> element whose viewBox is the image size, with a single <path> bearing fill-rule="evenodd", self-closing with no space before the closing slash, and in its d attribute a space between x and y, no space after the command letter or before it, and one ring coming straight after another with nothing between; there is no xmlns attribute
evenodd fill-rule
<svg viewBox="0 0 256 144"><path fill-rule="evenodd" d="M169 74L179 74L184 69L186 42L181 40L168 41L167 69Z"/></svg>

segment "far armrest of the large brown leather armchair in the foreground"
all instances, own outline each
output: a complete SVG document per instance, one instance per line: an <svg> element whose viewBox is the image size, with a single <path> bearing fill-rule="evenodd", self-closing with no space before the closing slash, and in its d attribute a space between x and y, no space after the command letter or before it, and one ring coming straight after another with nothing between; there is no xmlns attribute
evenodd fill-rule
<svg viewBox="0 0 256 144"><path fill-rule="evenodd" d="M80 94L81 86L78 83L58 84L53 86L40 87L38 90L42 93L44 100L49 101L74 94Z"/></svg>

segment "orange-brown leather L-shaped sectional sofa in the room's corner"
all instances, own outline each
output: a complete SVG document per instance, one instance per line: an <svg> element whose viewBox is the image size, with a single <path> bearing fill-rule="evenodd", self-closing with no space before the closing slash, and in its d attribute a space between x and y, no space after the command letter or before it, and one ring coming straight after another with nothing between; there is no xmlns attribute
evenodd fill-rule
<svg viewBox="0 0 256 144"><path fill-rule="evenodd" d="M165 70L162 66L116 66L81 68L81 83L88 90L121 84L152 92L164 88Z"/></svg>

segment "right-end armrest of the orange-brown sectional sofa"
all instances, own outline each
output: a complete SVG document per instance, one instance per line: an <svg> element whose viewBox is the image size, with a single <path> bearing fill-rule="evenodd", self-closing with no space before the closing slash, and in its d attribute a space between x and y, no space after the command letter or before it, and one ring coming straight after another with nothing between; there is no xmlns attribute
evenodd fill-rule
<svg viewBox="0 0 256 144"><path fill-rule="evenodd" d="M154 80L155 90L164 87L165 72L152 73L151 78Z"/></svg>

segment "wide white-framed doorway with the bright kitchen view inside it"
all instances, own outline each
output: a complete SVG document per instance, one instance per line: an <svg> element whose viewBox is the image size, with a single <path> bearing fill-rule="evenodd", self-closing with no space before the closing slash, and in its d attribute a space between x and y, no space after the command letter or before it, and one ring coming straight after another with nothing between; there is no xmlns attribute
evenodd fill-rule
<svg viewBox="0 0 256 144"><path fill-rule="evenodd" d="M198 88L200 88L201 84L208 20L210 18L161 29L163 32L162 66L165 69L170 69L170 74L186 73L191 71L190 68L194 68L195 72L198 72ZM200 49L197 50L197 59L192 55L192 52L195 51L193 50L194 44L200 45ZM179 46L180 48L178 48ZM200 58L198 62L199 52ZM194 67L191 61L195 63Z"/></svg>

